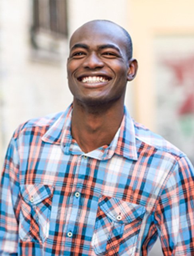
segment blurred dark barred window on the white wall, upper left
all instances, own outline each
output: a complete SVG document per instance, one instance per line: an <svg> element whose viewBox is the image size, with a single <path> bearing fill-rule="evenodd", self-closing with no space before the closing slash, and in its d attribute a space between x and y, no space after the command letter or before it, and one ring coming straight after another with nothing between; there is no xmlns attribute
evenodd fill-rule
<svg viewBox="0 0 194 256"><path fill-rule="evenodd" d="M67 38L67 1L32 0L32 57L59 61Z"/></svg>

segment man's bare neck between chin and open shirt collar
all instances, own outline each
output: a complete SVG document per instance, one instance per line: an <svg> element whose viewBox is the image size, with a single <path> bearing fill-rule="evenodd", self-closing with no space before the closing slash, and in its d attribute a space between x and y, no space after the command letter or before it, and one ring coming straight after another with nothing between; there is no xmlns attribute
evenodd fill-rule
<svg viewBox="0 0 194 256"><path fill-rule="evenodd" d="M73 101L72 137L87 153L113 140L123 119L123 104L87 106Z"/></svg>

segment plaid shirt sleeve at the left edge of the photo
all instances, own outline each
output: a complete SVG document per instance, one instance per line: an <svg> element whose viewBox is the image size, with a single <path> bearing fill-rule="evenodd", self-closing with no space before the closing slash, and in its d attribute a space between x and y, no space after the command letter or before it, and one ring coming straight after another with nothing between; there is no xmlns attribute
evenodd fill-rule
<svg viewBox="0 0 194 256"><path fill-rule="evenodd" d="M0 183L0 255L18 255L19 157L14 138L10 141Z"/></svg>

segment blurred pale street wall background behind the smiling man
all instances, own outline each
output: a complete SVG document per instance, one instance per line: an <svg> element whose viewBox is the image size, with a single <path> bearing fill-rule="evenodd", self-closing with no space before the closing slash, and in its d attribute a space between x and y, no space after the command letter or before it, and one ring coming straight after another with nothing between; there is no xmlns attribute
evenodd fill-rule
<svg viewBox="0 0 194 256"><path fill-rule="evenodd" d="M132 117L194 163L193 0L1 0L0 166L20 123L71 103L69 37L93 19L112 20L132 36L139 62L126 95ZM149 255L162 255L158 243Z"/></svg>

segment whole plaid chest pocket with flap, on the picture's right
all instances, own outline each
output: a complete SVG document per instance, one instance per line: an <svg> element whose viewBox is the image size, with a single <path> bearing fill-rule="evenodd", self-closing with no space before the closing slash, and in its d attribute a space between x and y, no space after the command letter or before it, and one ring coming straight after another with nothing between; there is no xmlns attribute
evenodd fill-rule
<svg viewBox="0 0 194 256"><path fill-rule="evenodd" d="M133 256L144 214L144 206L102 196L92 238L95 254Z"/></svg>

